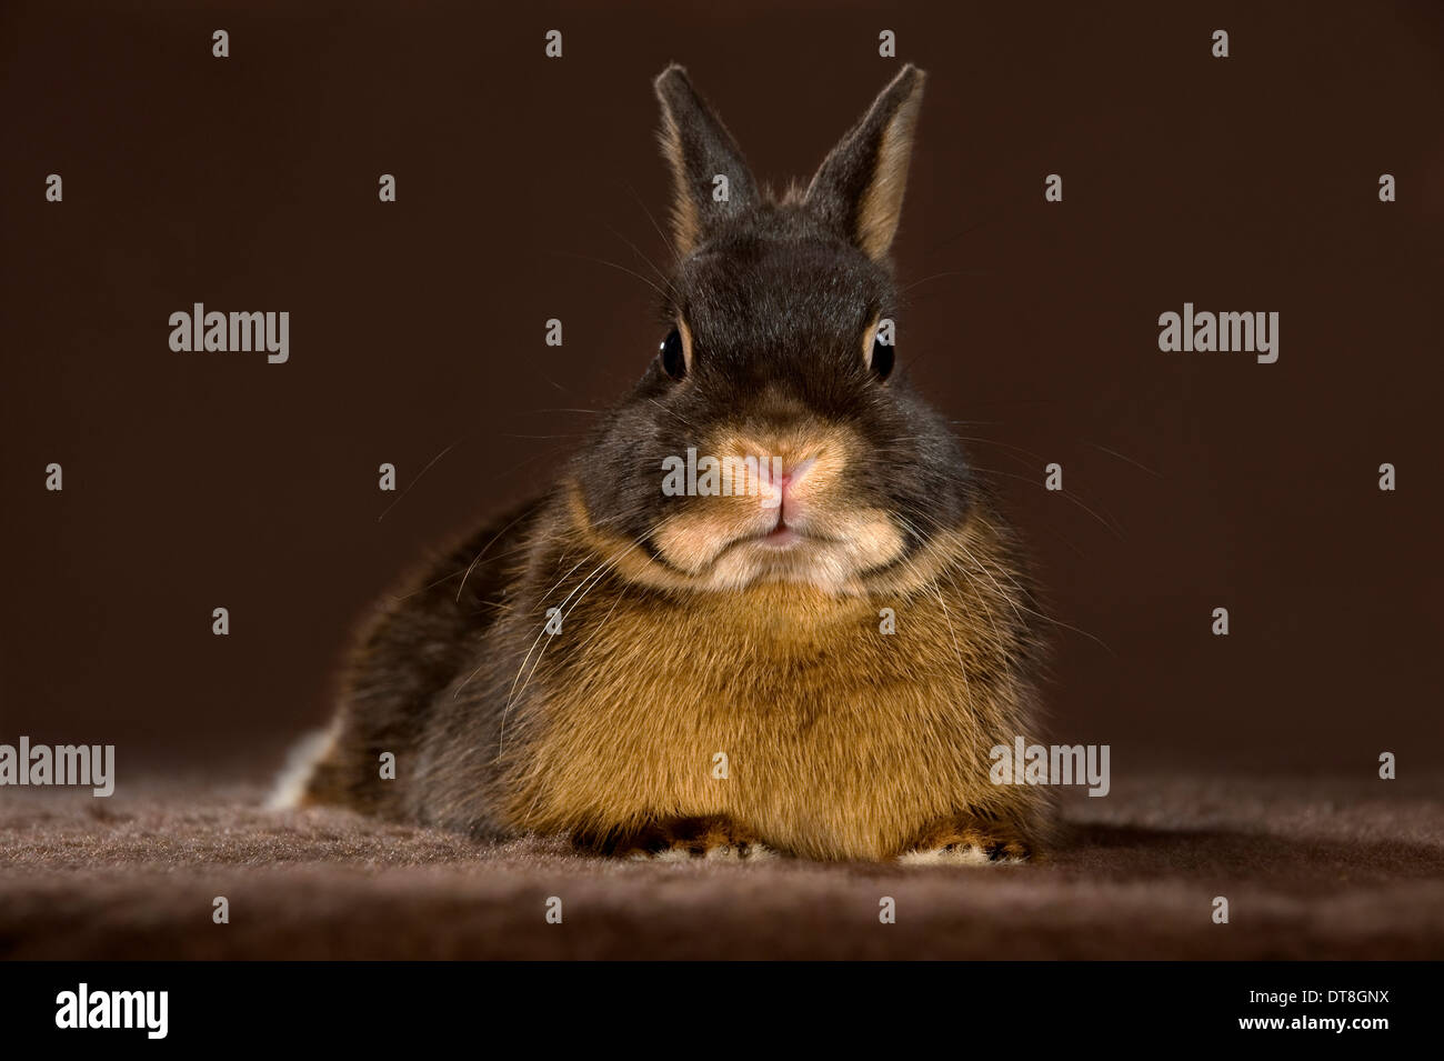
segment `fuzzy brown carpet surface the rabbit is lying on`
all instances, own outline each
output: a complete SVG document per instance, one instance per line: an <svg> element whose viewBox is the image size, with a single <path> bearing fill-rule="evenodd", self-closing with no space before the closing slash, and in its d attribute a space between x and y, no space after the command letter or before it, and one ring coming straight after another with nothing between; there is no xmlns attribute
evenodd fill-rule
<svg viewBox="0 0 1444 1061"><path fill-rule="evenodd" d="M0 956L1444 957L1444 778L1115 782L1069 793L1047 862L907 869L608 862L270 813L263 794L175 777L110 800L0 790Z"/></svg>

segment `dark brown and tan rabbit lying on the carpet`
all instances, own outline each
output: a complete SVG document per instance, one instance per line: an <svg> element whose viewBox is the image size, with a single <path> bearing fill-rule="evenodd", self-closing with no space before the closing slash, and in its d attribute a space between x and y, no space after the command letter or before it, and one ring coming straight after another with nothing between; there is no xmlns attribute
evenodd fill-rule
<svg viewBox="0 0 1444 1061"><path fill-rule="evenodd" d="M884 329L924 77L781 195L657 77L658 352L544 495L380 608L295 804L643 859L1041 855L1045 790L989 778L1041 712L1028 562Z"/></svg>

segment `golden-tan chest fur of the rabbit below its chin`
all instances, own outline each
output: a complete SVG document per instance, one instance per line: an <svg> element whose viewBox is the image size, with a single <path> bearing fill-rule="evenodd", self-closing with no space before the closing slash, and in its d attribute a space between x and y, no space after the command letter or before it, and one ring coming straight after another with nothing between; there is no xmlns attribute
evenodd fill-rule
<svg viewBox="0 0 1444 1061"><path fill-rule="evenodd" d="M885 857L1006 810L989 749L1025 735L996 602L768 588L671 606L588 593L513 710L505 816L537 831L723 814L812 857ZM949 599L952 598L952 599ZM879 611L897 631L879 629Z"/></svg>

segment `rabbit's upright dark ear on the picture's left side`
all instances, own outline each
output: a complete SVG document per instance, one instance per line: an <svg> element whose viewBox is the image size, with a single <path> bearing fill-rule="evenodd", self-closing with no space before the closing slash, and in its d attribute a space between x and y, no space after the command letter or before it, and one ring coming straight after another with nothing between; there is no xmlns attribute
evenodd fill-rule
<svg viewBox="0 0 1444 1061"><path fill-rule="evenodd" d="M654 82L661 102L661 153L671 166L671 235L690 253L718 219L757 202L757 185L736 140L673 64ZM718 180L725 176L726 180Z"/></svg>

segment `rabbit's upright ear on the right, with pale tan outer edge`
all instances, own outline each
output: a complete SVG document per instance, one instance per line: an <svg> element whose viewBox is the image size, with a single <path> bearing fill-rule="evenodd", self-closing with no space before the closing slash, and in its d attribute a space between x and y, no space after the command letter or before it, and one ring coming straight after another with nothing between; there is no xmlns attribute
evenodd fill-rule
<svg viewBox="0 0 1444 1061"><path fill-rule="evenodd" d="M804 198L874 260L887 257L898 231L926 77L904 66L823 159Z"/></svg>

